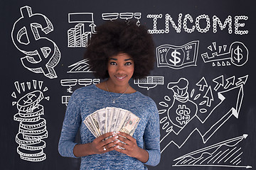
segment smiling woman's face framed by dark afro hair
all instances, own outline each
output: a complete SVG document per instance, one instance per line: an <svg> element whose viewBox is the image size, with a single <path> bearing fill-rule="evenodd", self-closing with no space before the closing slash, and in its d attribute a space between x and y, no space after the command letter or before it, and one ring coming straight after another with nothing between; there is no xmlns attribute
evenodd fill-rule
<svg viewBox="0 0 256 170"><path fill-rule="evenodd" d="M107 65L108 73L110 74L110 81L114 86L127 86L129 79L134 73L134 61L132 57L119 53L118 55L110 57Z"/></svg>

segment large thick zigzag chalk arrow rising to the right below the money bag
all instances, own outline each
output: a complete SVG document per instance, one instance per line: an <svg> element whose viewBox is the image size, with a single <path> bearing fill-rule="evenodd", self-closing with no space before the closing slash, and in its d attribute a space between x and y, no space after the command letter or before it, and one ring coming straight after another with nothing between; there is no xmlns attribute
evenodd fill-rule
<svg viewBox="0 0 256 170"><path fill-rule="evenodd" d="M234 97L234 94L236 97ZM232 115L238 118L243 98L242 84L233 89L219 92L218 98L220 103L213 108L206 120L202 121L196 115L178 132L171 131L162 137L161 143L165 143L166 140L169 140L169 143L161 145L163 147L161 152L164 152L164 149L171 145L171 143L181 148L193 132L196 131L201 135L203 143L206 143Z"/></svg>

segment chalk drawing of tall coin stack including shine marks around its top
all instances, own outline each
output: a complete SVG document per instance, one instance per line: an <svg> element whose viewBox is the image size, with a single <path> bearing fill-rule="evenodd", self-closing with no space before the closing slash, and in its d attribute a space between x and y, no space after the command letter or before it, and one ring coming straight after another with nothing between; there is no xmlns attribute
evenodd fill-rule
<svg viewBox="0 0 256 170"><path fill-rule="evenodd" d="M12 103L18 110L14 120L20 122L16 135L17 153L21 159L28 162L41 162L46 159L43 152L46 142L43 139L48 137L48 131L46 119L41 118L44 115L44 107L40 102L43 99L50 100L49 96L44 96L48 88L43 87L43 81L36 80L28 81L26 84L15 81L14 85L16 91L11 96L18 100Z"/></svg>

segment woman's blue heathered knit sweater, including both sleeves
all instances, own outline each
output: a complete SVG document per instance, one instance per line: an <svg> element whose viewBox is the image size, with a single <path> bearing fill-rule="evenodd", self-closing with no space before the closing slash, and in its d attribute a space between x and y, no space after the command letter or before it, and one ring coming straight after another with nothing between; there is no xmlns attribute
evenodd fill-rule
<svg viewBox="0 0 256 170"><path fill-rule="evenodd" d="M120 94L110 92L112 98L118 98ZM80 169L147 169L146 165L156 166L160 161L159 145L159 114L156 103L144 96L139 91L133 94L124 94L112 103L108 91L97 88L95 85L82 87L72 94L68 102L68 108L63 121L58 150L63 157L75 157L73 148L77 143L75 136L80 130L81 143L95 140L90 130L82 123L91 113L100 108L116 107L131 111L141 120L134 132L137 145L149 152L149 160L146 163L138 159L128 157L126 154L115 150L105 154L92 154L81 158Z"/></svg>

